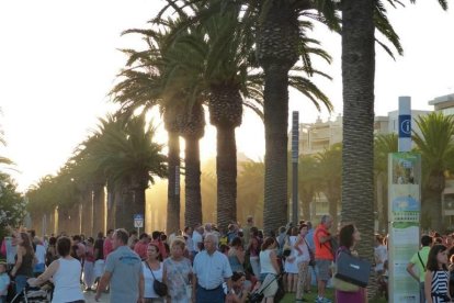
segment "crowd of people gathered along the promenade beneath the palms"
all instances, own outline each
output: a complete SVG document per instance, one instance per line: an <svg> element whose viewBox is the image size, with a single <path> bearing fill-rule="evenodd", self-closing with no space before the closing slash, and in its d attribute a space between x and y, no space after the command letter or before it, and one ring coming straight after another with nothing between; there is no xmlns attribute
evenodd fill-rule
<svg viewBox="0 0 454 303"><path fill-rule="evenodd" d="M99 233L95 239L65 233L39 238L33 231L11 229L14 261L0 263L0 302L8 302L11 281L15 293L52 281L56 303L84 302L83 292L90 291L97 301L110 292L114 303L269 303L285 293L294 293L295 302L306 302L314 284L316 302L329 303L326 289L333 261L345 251L357 256L355 246L361 240L355 225L331 232L332 222L324 215L315 227L300 221L263 234L249 216L245 225L231 223L225 231L209 223L170 235L120 228L109 229L105 236ZM378 290L386 296L386 237L376 235L375 240L374 270ZM447 267L450 258L454 261L453 243L451 236L421 238L422 248L407 267L420 283L421 302L451 298ZM4 240L1 252L7 252ZM365 288L336 289L339 303L362 303L366 298Z"/></svg>

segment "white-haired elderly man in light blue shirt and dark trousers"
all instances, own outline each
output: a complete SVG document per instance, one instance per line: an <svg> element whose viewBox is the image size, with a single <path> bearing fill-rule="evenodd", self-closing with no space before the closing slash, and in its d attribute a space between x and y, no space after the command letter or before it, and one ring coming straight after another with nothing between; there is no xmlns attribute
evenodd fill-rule
<svg viewBox="0 0 454 303"><path fill-rule="evenodd" d="M217 251L218 238L213 234L205 236L205 250L194 259L193 299L197 303L224 303L226 294L223 283L227 284L227 299L231 300L231 269L227 257Z"/></svg>

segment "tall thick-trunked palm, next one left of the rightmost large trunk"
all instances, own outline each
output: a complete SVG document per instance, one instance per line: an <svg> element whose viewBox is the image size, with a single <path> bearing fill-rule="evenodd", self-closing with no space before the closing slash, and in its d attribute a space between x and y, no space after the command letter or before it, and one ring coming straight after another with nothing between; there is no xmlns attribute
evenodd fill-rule
<svg viewBox="0 0 454 303"><path fill-rule="evenodd" d="M194 5L196 2L220 3L228 12L229 9L239 4L248 4L248 9L242 15L242 26L248 29L245 33L253 34L247 36L253 40L257 45L258 63L264 70L264 122L265 122L265 228L273 229L275 226L284 225L286 221L287 204L287 116L288 116L288 91L287 86L288 70L295 65L299 55L303 55L304 66L300 71L311 76L315 71L310 65L309 53L321 55L328 58L327 54L316 47L311 47L313 40L308 40L305 31L310 27L310 23L298 22L298 16L304 9L314 8L311 1L172 1L162 10L172 8L180 12L183 8ZM181 2L181 7L177 2ZM327 7L330 1L322 1ZM227 5L226 5L227 4ZM231 5L228 5L231 4ZM309 4L309 7L307 5ZM216 7L216 5L214 5ZM207 10L209 11L209 10ZM209 12L197 12L195 20L203 20ZM260 18L257 18L260 12ZM217 11L215 11L215 14ZM315 16L308 13L309 16ZM254 16L254 18L253 18ZM159 18L159 15L158 15ZM209 18L209 16L208 16ZM317 16L316 16L317 18ZM327 18L329 20L336 19ZM258 21L258 23L254 23ZM202 22L201 22L202 23ZM334 24L334 23L333 23ZM250 31L253 29L253 31ZM235 35L236 27L231 29L230 35ZM318 105L317 100L321 101L330 110L331 104L325 94L318 90L307 79L299 78L296 81L304 88L305 96ZM266 101L268 100L268 101Z"/></svg>

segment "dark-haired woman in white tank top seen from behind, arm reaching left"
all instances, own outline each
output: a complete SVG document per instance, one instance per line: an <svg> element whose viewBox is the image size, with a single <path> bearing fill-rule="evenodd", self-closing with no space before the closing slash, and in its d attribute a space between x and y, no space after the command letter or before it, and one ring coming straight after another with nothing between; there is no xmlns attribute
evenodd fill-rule
<svg viewBox="0 0 454 303"><path fill-rule="evenodd" d="M53 278L55 289L52 303L86 302L80 289L82 267L79 260L69 255L70 250L71 240L68 237L60 237L57 242L57 251L60 258L53 261L38 278L27 280L31 287L36 287Z"/></svg>

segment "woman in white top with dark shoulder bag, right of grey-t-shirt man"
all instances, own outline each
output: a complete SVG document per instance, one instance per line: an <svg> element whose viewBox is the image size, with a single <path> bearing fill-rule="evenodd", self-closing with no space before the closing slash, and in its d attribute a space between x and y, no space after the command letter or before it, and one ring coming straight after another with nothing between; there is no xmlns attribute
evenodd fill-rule
<svg viewBox="0 0 454 303"><path fill-rule="evenodd" d="M162 262L160 259L161 254L159 252L159 247L150 243L147 248L147 259L141 262L144 267L145 303L163 302L163 298L160 298L152 287L155 279L162 282Z"/></svg>

